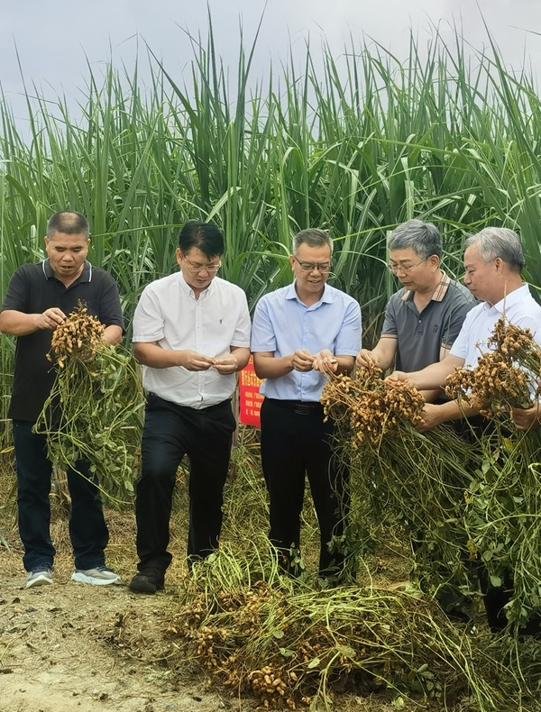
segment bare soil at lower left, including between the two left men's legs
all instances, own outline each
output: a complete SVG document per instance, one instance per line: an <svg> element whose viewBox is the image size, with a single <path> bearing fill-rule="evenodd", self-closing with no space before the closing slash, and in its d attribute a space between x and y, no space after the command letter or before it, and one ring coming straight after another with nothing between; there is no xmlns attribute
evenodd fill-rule
<svg viewBox="0 0 541 712"><path fill-rule="evenodd" d="M252 712L257 702L236 698L206 679L189 660L170 664L162 631L186 575L182 541L173 526L176 558L166 591L156 596L127 589L135 569L133 513L107 510L107 563L118 586L70 580L66 516L53 501L51 533L57 547L54 582L26 589L22 546L14 518L13 470L0 467L0 712ZM11 504L10 504L11 503ZM336 710L390 712L385 699L341 697Z"/></svg>

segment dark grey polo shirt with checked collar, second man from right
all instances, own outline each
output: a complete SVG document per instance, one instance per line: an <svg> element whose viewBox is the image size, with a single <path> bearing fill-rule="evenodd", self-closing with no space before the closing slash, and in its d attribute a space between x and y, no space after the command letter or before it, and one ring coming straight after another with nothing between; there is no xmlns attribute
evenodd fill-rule
<svg viewBox="0 0 541 712"><path fill-rule="evenodd" d="M395 368L407 372L439 361L441 348L453 345L466 314L478 304L468 288L444 272L422 312L413 297L414 292L406 288L390 297L381 332L381 338L398 340Z"/></svg>

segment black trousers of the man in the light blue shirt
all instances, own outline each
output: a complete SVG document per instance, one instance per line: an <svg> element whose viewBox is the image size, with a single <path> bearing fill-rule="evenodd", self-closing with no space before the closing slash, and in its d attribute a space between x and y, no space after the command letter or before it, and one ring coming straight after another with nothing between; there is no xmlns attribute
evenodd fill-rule
<svg viewBox="0 0 541 712"><path fill-rule="evenodd" d="M306 410L306 412L303 412ZM324 423L319 404L298 404L265 398L261 405L261 465L271 499L271 543L289 561L300 547L300 514L305 479L316 507L321 534L319 573L339 575L344 555L329 552L333 535L344 534L348 470L338 464L331 443L334 425Z"/></svg>

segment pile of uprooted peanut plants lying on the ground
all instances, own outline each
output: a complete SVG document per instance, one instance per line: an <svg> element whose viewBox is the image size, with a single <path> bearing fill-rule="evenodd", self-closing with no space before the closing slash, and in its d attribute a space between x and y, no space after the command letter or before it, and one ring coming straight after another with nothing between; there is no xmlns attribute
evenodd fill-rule
<svg viewBox="0 0 541 712"><path fill-rule="evenodd" d="M224 547L197 565L175 608L163 626L170 665L198 662L265 708L335 708L347 690L450 710L503 710L536 695L538 673L526 682L509 664L516 641L456 627L420 593L312 589Z"/></svg>

